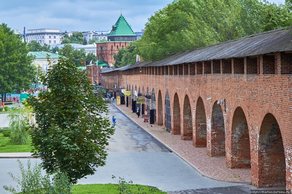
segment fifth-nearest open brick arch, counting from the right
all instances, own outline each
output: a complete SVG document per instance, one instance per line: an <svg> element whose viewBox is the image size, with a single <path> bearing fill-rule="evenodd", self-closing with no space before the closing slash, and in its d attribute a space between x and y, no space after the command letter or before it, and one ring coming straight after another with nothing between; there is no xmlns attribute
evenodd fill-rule
<svg viewBox="0 0 292 194"><path fill-rule="evenodd" d="M183 126L180 132L182 140L192 140L193 126L192 126L192 109L188 95L185 95L183 102Z"/></svg>

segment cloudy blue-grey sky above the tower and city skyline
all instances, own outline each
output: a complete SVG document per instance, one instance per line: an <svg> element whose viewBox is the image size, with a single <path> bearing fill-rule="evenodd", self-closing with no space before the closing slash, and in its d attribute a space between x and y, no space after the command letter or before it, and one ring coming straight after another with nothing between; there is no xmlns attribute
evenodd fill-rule
<svg viewBox="0 0 292 194"><path fill-rule="evenodd" d="M62 31L107 31L122 13L134 31L141 31L155 11L173 0L1 0L0 23L21 32L51 28ZM284 3L285 0L270 0Z"/></svg>

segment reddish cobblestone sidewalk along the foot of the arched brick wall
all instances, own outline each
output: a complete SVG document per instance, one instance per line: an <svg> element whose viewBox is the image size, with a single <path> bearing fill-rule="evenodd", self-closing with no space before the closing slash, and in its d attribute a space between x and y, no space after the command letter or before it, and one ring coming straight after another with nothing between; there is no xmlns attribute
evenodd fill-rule
<svg viewBox="0 0 292 194"><path fill-rule="evenodd" d="M250 168L230 169L225 165L225 156L210 157L207 155L206 147L194 147L191 140L181 140L180 135L171 135L163 126L151 124L151 127L149 122L143 122L144 119L138 118L126 105L119 105L117 108L138 123L143 129L187 159L187 161L204 172L204 174L224 181L251 181Z"/></svg>

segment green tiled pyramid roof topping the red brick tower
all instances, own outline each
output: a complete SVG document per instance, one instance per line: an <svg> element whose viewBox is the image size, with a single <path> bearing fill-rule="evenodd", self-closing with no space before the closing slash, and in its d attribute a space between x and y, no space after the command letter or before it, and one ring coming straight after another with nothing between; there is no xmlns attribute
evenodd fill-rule
<svg viewBox="0 0 292 194"><path fill-rule="evenodd" d="M112 26L112 31L107 36L108 41L134 41L136 34L131 29L126 19L121 15L116 24Z"/></svg>

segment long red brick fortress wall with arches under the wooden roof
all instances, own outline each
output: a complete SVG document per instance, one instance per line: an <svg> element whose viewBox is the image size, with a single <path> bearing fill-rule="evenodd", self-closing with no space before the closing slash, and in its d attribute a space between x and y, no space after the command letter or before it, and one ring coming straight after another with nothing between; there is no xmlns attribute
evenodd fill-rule
<svg viewBox="0 0 292 194"><path fill-rule="evenodd" d="M212 60L213 74L182 75L183 65L180 64L172 66L173 75L152 74L149 76L149 82L138 83L137 75L128 75L127 79L131 86L149 87L150 91L154 88L157 110L160 108L159 103L160 109L164 110L164 98L168 91L172 111L172 133L178 134L180 128L181 137L193 138L193 141L196 141L201 126L198 122L206 117L208 154L222 155L225 147L227 165L231 168L246 168L250 165L251 180L256 186L286 184L287 189L292 189L292 81L291 73L289 74L292 71L291 60L291 53L245 57L245 74L235 74L237 59L230 59L231 74L218 74L222 63L220 60ZM203 64L205 65L205 61ZM271 64L274 64L274 73ZM238 65L242 72L242 60ZM190 74L193 66L194 64L190 63ZM269 68L271 74L265 74ZM112 82L112 76L104 73L102 78ZM148 80L146 74L138 76ZM124 75L123 80L125 78ZM206 100L210 97L211 100ZM221 99L226 99L226 112L223 104L218 105L216 102ZM164 111L160 116L157 113L158 117L164 118ZM273 139L273 142L268 141L269 139Z"/></svg>

